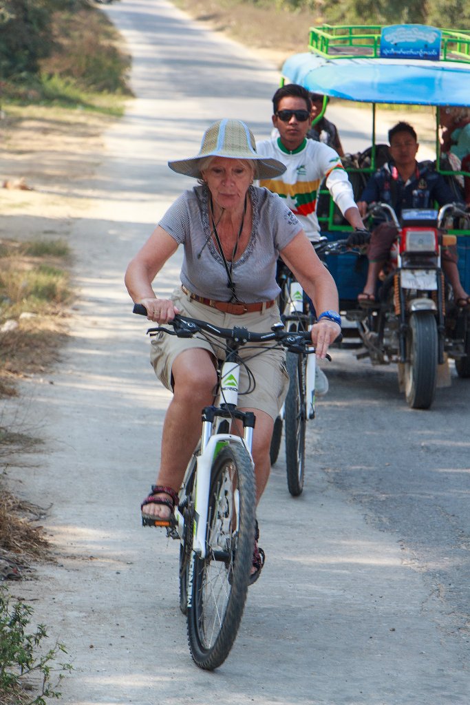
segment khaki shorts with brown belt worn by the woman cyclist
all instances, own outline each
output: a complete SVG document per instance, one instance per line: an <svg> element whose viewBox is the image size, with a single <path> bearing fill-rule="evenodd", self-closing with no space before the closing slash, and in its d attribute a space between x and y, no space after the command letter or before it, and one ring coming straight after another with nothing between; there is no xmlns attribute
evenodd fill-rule
<svg viewBox="0 0 470 705"><path fill-rule="evenodd" d="M179 288L173 291L171 299L183 315L213 323L221 328L246 326L249 331L266 333L271 330L271 326L280 321L277 305L263 313L254 312L234 316L190 300L190 297ZM223 338L220 340L223 343ZM271 345L273 343L257 344L256 348L253 348L248 344L240 348L239 355L249 367L256 385L253 389L253 380L249 378L245 367L241 366L238 406L259 409L276 419L287 394L289 375L285 367L285 351L279 348L270 350ZM268 350L260 355L261 347L268 348ZM225 359L223 348L219 348L212 341L207 341L202 335L194 338L177 338L176 336L168 336L166 333L158 333L154 338L151 338L150 362L156 376L170 391L173 389L171 376L173 362L180 353L190 348L203 348L209 350L219 360Z"/></svg>

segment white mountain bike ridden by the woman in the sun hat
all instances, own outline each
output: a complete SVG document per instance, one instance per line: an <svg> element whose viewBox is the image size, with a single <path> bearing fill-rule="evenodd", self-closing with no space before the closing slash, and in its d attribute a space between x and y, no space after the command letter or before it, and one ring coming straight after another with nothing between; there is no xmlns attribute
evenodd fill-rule
<svg viewBox="0 0 470 705"><path fill-rule="evenodd" d="M147 314L142 305L135 313ZM180 609L194 662L214 670L225 661L240 626L256 531L256 490L252 461L255 417L237 409L240 360L237 350L250 343L254 355L273 346L290 353L314 353L307 331L285 331L276 324L266 333L245 327L217 328L206 321L175 316L173 330L158 326L150 335L225 339L219 362L220 403L202 410L202 434L187 466L168 536L180 541ZM273 346L266 345L272 341ZM219 343L220 345L220 343ZM242 424L242 435L231 426ZM184 430L184 429L183 429ZM144 519L144 525L158 525Z"/></svg>

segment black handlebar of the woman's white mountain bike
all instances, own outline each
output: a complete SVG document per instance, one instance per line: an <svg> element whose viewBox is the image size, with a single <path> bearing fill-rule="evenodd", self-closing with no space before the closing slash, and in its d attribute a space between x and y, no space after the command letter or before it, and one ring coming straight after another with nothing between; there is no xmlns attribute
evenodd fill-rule
<svg viewBox="0 0 470 705"><path fill-rule="evenodd" d="M139 314L141 316L147 316L147 309L142 304L135 304L133 313ZM233 328L220 328L214 326L212 323L207 321L199 321L195 318L188 318L176 314L173 321L168 321L168 325L173 326L173 331L169 331L168 328L163 328L158 326L156 328L151 328L147 333L158 333L159 331L164 331L171 336L178 336L180 338L191 338L195 333L200 333L201 331L206 331L206 333L211 333L218 338L225 338L225 340L235 341L238 345L245 345L245 343L268 343L269 341L276 341L283 345L286 350L291 353L314 353L315 348L311 346L311 333L310 331L286 331L283 324L275 324L271 331L266 331L266 333L256 333L254 331L249 331L245 326L233 326ZM307 350L310 348L310 350ZM331 360L330 355L326 355L328 360Z"/></svg>

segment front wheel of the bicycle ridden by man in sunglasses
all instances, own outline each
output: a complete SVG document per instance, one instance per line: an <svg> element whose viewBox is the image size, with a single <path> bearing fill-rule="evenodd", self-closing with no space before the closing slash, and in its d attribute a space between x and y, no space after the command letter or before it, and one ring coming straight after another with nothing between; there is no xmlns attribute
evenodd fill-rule
<svg viewBox="0 0 470 705"><path fill-rule="evenodd" d="M289 390L285 398L285 465L287 488L293 497L302 494L305 469L305 378L307 357L287 353Z"/></svg>

